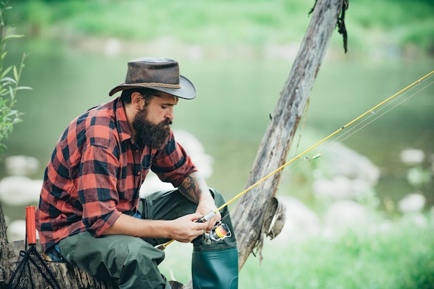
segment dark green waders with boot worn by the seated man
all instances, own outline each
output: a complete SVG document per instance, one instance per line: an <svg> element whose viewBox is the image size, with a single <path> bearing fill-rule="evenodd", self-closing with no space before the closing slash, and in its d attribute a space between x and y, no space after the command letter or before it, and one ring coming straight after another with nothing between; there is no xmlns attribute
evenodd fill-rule
<svg viewBox="0 0 434 289"><path fill-rule="evenodd" d="M211 189L217 207L223 205L223 197ZM196 212L191 203L177 190L146 195L139 204L143 218L173 220ZM202 236L193 240L192 278L193 288L238 288L238 252L234 229L227 208L220 212L232 236L222 241L207 243ZM59 242L60 254L69 263L89 272L96 279L118 279L119 288L164 288L171 286L159 272L164 251L155 245L169 239L140 239L133 236L110 235L94 238L88 232L80 232Z"/></svg>

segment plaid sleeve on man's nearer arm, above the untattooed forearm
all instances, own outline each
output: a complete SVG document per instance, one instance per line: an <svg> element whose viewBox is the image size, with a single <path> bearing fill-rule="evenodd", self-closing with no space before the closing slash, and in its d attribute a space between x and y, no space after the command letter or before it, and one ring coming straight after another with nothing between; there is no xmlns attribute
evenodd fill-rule
<svg viewBox="0 0 434 289"><path fill-rule="evenodd" d="M78 198L83 206L83 224L92 236L101 236L119 218L117 158L104 147L90 145L83 152L78 178Z"/></svg>

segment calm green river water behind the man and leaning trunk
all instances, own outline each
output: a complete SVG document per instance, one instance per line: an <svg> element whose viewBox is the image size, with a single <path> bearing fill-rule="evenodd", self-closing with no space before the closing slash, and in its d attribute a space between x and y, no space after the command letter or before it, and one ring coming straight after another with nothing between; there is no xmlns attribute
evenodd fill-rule
<svg viewBox="0 0 434 289"><path fill-rule="evenodd" d="M24 113L23 122L14 127L6 141L1 174L6 176L3 162L8 156L32 156L40 161L40 169L31 178L40 179L55 141L69 121L109 101L108 91L125 78L126 62L144 55L136 51L109 56L98 50L76 49L62 41L35 39L21 41L16 50L31 52L21 85L31 86L33 91L18 95L16 109ZM214 159L209 185L218 187L227 198L238 194L248 178L293 59L198 58L177 53L157 56L176 57L181 73L198 88L195 100L182 100L177 105L173 128L196 136ZM426 57L408 60L354 57L351 53L328 55L315 80L298 151L333 133L433 67L434 59ZM402 100L406 101L390 106L388 113L348 136L342 145L379 167L381 178L375 191L381 198L387 196L397 202L405 194L422 192L432 205L434 85L422 91L415 89L399 102ZM399 158L404 149L424 153L424 160L417 165L428 175L424 183L415 186L408 181L410 167ZM289 191L304 192L299 185L293 184ZM3 207L12 219L21 214L17 206L3 203Z"/></svg>

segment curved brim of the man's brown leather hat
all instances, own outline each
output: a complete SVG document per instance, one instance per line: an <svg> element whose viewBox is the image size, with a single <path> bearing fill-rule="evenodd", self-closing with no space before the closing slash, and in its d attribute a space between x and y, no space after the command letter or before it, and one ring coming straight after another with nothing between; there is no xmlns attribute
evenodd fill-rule
<svg viewBox="0 0 434 289"><path fill-rule="evenodd" d="M194 97L196 97L196 88L194 87L193 83L190 80L180 75L180 84L181 84L181 88L166 88L166 87L159 87L159 86L140 86L140 85L123 83L113 88L110 91L109 95L112 96L114 95L114 93L117 93L118 91L123 91L125 89L130 89L130 88L152 88L156 91L162 91L164 93L168 93L176 97L184 98L185 100L192 100Z"/></svg>

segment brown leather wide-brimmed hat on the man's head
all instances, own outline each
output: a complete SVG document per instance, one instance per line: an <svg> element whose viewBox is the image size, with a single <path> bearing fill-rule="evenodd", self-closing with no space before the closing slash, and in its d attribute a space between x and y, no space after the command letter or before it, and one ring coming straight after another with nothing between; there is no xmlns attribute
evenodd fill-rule
<svg viewBox="0 0 434 289"><path fill-rule="evenodd" d="M113 88L109 95L129 88L152 88L177 97L191 100L196 88L186 77L180 75L180 66L173 59L142 57L128 62L127 76Z"/></svg>

